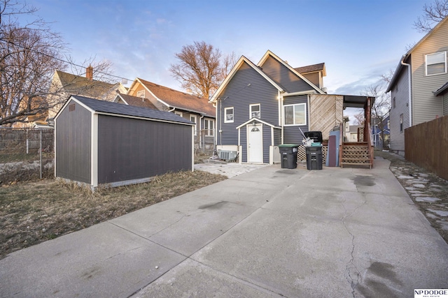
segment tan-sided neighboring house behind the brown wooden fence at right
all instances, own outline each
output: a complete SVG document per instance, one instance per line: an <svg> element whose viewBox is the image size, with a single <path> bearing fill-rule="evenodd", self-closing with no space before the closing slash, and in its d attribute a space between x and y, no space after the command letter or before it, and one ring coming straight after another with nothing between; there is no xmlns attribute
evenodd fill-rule
<svg viewBox="0 0 448 298"><path fill-rule="evenodd" d="M391 91L391 151L404 155L405 129L448 114L448 17L419 40L398 63Z"/></svg>

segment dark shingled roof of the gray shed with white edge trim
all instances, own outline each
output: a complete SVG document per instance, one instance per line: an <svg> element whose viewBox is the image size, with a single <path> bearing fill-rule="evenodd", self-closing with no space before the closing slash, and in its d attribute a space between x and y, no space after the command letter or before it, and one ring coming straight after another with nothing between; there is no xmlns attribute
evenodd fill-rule
<svg viewBox="0 0 448 298"><path fill-rule="evenodd" d="M123 105L121 103L111 103L109 101L97 100L84 96L71 96L70 98L73 98L94 112L113 114L118 117L139 117L160 121L178 122L181 124L193 124L193 122L188 121L188 119L180 117L174 113L153 110L148 107L135 107L133 105Z"/></svg>

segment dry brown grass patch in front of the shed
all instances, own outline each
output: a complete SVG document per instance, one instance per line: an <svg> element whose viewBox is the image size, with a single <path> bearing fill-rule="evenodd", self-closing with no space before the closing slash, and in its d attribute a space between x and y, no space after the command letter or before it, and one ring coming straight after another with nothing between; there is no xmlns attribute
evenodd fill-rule
<svg viewBox="0 0 448 298"><path fill-rule="evenodd" d="M176 172L146 184L99 189L55 179L0 186L0 258L27 246L169 200L227 177Z"/></svg>

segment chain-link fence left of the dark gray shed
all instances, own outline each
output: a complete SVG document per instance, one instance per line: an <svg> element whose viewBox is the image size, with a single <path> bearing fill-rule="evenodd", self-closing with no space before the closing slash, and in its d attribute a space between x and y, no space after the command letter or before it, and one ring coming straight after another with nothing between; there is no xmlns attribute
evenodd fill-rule
<svg viewBox="0 0 448 298"><path fill-rule="evenodd" d="M55 131L0 128L0 184L54 176Z"/></svg>

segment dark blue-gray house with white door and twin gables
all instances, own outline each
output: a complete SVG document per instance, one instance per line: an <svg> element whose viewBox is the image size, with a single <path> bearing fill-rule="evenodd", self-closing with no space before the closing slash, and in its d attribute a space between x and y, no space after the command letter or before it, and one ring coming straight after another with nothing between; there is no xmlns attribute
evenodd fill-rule
<svg viewBox="0 0 448 298"><path fill-rule="evenodd" d="M326 94L325 74L325 64L293 68L269 50L256 65L242 56L210 100L217 148L237 151L240 163L277 163L278 145L302 144L302 132L328 140L335 126L343 130L345 107L364 107L370 119L372 98Z"/></svg>

